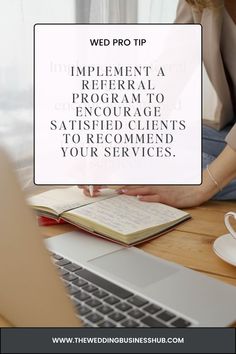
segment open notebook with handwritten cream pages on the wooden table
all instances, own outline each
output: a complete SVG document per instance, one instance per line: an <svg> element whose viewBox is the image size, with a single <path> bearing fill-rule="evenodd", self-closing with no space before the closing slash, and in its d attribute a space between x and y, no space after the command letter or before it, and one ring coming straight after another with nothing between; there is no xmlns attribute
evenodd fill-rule
<svg viewBox="0 0 236 354"><path fill-rule="evenodd" d="M78 187L54 189L29 199L39 215L64 219L78 227L122 244L131 245L159 235L190 214L136 197L104 190L86 197Z"/></svg>

